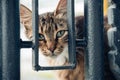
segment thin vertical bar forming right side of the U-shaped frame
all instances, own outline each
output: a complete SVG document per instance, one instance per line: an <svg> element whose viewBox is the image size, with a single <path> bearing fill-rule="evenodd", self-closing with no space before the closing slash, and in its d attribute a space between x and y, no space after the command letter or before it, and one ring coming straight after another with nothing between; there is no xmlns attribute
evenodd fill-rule
<svg viewBox="0 0 120 80"><path fill-rule="evenodd" d="M67 23L69 30L69 61L76 63L76 42L75 42L75 25L74 25L74 0L67 0Z"/></svg>

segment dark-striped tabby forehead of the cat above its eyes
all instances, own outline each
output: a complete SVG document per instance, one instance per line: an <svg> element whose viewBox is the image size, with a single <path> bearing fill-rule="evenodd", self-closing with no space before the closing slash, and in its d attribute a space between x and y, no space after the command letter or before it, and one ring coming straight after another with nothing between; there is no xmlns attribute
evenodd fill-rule
<svg viewBox="0 0 120 80"><path fill-rule="evenodd" d="M53 13L45 13L39 16L40 32L50 33L58 29L67 29L67 21L65 19L56 18Z"/></svg>

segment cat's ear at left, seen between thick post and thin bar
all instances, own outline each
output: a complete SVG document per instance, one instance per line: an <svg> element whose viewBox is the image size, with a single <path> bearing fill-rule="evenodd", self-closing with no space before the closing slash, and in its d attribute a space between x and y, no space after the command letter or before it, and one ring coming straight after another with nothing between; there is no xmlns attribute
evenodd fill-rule
<svg viewBox="0 0 120 80"><path fill-rule="evenodd" d="M20 22L24 25L26 36L30 39L32 37L32 11L24 5L20 5Z"/></svg>

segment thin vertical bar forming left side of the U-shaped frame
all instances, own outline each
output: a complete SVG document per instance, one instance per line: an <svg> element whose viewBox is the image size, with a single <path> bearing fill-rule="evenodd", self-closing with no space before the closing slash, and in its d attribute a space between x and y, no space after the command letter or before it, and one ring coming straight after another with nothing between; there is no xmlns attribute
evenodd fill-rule
<svg viewBox="0 0 120 80"><path fill-rule="evenodd" d="M32 0L32 27L33 27L33 54L32 64L33 69L37 70L38 67L38 0Z"/></svg>

